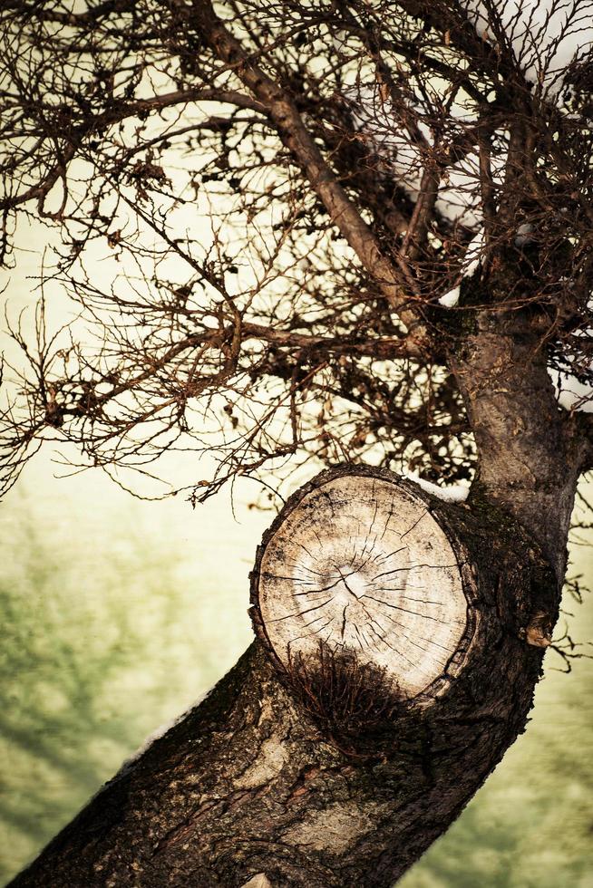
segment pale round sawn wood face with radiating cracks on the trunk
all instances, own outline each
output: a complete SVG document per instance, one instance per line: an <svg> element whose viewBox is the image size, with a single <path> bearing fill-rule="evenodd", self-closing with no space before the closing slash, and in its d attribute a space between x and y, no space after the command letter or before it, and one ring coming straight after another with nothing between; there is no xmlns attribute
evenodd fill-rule
<svg viewBox="0 0 593 888"><path fill-rule="evenodd" d="M275 528L253 593L277 661L315 661L321 642L384 670L405 698L446 687L468 603L452 546L410 487L328 478Z"/></svg>

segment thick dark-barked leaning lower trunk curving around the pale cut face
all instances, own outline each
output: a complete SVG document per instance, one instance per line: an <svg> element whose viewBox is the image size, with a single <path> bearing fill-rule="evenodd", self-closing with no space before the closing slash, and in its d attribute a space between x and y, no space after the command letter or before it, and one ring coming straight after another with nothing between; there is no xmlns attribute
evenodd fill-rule
<svg viewBox="0 0 593 888"><path fill-rule="evenodd" d="M311 685L254 642L14 888L239 888L258 875L274 888L378 888L459 815L525 725L545 644L534 624L554 622L558 576L500 507L446 504L370 468L322 474L284 515L343 476L401 487L452 546L470 629L446 688L400 696L370 729L353 731L347 719L324 720Z"/></svg>

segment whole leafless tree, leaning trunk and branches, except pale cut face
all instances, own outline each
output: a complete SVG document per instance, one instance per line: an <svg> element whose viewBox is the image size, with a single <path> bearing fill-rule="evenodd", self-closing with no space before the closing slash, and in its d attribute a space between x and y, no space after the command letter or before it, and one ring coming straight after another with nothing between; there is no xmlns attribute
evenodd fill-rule
<svg viewBox="0 0 593 888"><path fill-rule="evenodd" d="M53 332L43 293L33 339L9 323L5 488L45 439L194 505L346 464L264 541L259 641L15 885L389 885L524 728L593 456L550 377L592 381L590 12L5 3L3 259L15 219L40 220L60 236L44 288L77 306ZM266 559L340 485L451 547L468 616L438 692L324 639L278 655L292 593L266 611ZM359 567L331 566L356 606Z"/></svg>

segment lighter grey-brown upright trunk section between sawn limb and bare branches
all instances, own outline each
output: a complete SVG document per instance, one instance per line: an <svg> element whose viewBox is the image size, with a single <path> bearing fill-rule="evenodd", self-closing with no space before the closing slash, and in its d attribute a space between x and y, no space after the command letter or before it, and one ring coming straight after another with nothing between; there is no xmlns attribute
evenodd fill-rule
<svg viewBox="0 0 593 888"><path fill-rule="evenodd" d="M496 301L497 285L490 298ZM547 368L542 325L526 309L496 305L468 314L461 345L450 355L479 453L472 498L485 497L514 516L538 542L559 584L578 477L588 439L561 410Z"/></svg>

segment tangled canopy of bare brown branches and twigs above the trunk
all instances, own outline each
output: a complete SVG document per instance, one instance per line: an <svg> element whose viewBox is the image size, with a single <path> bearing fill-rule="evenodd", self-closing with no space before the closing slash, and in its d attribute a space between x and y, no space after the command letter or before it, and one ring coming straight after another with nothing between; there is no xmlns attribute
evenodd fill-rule
<svg viewBox="0 0 593 888"><path fill-rule="evenodd" d="M55 232L4 487L43 439L126 486L214 449L194 500L307 459L470 478L480 305L593 381L591 6L5 0L5 265Z"/></svg>

